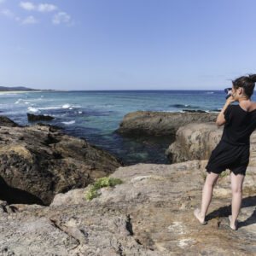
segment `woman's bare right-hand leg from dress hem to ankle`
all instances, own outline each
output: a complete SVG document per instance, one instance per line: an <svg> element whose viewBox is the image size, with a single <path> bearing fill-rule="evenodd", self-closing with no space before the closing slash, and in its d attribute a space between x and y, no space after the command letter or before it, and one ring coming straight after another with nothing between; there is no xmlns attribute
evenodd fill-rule
<svg viewBox="0 0 256 256"><path fill-rule="evenodd" d="M240 212L241 199L242 199L242 183L244 180L244 175L237 174L234 172L230 173L231 179L231 189L232 189L232 218L230 222L230 227L236 229L236 218Z"/></svg>

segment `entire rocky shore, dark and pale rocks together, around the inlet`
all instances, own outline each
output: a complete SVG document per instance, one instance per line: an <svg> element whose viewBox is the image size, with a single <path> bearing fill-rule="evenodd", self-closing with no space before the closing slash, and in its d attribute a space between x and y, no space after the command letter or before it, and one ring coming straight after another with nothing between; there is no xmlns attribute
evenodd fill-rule
<svg viewBox="0 0 256 256"><path fill-rule="evenodd" d="M228 170L213 190L207 225L193 215L223 131L216 117L126 114L119 134L175 138L166 150L171 165L133 166L59 127L0 118L0 255L255 255L255 132L238 230L229 227ZM88 201L88 184L108 175L124 183Z"/></svg>

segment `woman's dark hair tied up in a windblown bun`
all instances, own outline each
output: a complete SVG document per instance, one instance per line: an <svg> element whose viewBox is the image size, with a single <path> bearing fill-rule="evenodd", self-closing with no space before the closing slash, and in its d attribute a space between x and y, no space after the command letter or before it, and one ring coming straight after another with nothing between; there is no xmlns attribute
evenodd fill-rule
<svg viewBox="0 0 256 256"><path fill-rule="evenodd" d="M253 95L253 90L256 82L256 74L250 74L247 77L242 76L236 80L232 81L232 84L236 89L242 87L244 89L244 94L250 98Z"/></svg>

